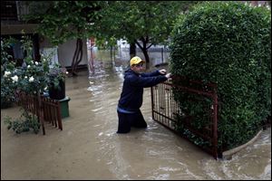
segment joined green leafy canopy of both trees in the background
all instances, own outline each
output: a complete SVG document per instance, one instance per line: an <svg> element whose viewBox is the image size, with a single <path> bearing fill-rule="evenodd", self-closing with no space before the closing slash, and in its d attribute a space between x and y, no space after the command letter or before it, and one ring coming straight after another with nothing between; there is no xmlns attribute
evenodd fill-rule
<svg viewBox="0 0 272 181"><path fill-rule="evenodd" d="M153 44L166 43L176 17L196 3L193 1L53 1L47 4L31 2L30 7L37 5L44 7L41 7L41 13L37 12L36 8L30 8L33 13L25 18L37 21L40 24L38 33L48 37L55 45L91 36L96 37L100 42L112 45L117 39L122 38L128 43L137 43L146 61L149 62L147 50Z"/></svg>

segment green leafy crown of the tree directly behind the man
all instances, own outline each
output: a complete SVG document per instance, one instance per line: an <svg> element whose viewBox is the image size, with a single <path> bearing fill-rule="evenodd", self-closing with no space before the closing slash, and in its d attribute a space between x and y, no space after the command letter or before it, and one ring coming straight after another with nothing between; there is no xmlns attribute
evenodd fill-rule
<svg viewBox="0 0 272 181"><path fill-rule="evenodd" d="M95 23L96 37L101 44L113 40L109 43L112 45L124 39L145 50L151 44L167 44L177 16L194 4L192 1L109 1L102 6L102 18ZM144 47L142 43L148 44Z"/></svg>

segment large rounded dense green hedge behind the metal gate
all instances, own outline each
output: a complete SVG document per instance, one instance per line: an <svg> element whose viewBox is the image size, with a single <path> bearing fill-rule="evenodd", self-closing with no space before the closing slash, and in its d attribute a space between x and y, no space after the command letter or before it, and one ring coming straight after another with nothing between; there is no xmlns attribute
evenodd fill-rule
<svg viewBox="0 0 272 181"><path fill-rule="evenodd" d="M196 5L171 34L170 71L217 83L219 146L247 142L271 114L271 11L238 2ZM188 96L176 100L193 104Z"/></svg>

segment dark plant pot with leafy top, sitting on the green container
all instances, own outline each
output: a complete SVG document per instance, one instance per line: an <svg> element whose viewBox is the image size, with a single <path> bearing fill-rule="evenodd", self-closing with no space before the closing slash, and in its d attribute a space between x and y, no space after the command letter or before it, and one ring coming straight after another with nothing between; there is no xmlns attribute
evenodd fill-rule
<svg viewBox="0 0 272 181"><path fill-rule="evenodd" d="M49 69L49 97L53 100L63 100L65 98L65 77L67 71L60 64L55 63Z"/></svg>

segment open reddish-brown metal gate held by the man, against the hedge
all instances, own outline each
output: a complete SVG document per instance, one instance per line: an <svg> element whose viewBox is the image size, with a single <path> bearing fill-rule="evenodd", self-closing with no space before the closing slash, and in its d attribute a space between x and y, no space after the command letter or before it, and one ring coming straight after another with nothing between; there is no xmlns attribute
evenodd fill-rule
<svg viewBox="0 0 272 181"><path fill-rule="evenodd" d="M184 105L177 101L179 95L188 98L184 101ZM221 153L218 149L216 84L204 84L202 81L175 76L170 81L151 87L151 103L152 119L183 138L187 138L216 159L219 157ZM201 114L197 115L195 112L184 109L186 103L201 108ZM203 119L205 124L199 127L198 124Z"/></svg>

